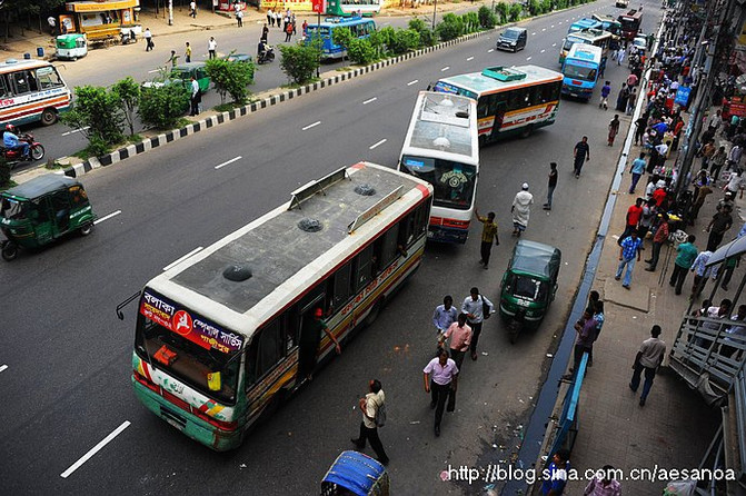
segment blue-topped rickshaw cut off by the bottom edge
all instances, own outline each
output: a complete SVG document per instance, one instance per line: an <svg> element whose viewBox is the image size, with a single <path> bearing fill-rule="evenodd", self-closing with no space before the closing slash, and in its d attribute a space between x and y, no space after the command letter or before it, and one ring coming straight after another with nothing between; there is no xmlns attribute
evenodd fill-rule
<svg viewBox="0 0 746 496"><path fill-rule="evenodd" d="M342 452L321 480L321 496L388 496L389 476L377 460L358 452Z"/></svg>

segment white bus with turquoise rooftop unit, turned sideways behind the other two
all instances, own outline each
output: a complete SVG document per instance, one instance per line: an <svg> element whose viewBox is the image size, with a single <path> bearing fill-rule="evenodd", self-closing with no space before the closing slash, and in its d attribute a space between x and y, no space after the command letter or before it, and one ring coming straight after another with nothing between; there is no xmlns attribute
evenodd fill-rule
<svg viewBox="0 0 746 496"><path fill-rule="evenodd" d="M477 100L479 143L485 145L555 122L563 75L538 66L488 67L439 80L436 91Z"/></svg>

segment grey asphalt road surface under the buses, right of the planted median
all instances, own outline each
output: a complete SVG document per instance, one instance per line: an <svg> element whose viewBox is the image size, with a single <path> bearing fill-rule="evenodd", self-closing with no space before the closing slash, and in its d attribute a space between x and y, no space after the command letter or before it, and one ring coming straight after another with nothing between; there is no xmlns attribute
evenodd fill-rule
<svg viewBox="0 0 746 496"><path fill-rule="evenodd" d="M345 344L339 358L232 453L192 443L137 401L130 386L137 308L127 307L119 321L115 307L177 258L286 201L298 185L360 159L394 167L415 96L427 82L528 59L555 68L568 20L594 10L614 12L609 4L528 22L523 52L494 52L494 37L483 37L84 176L97 214L119 214L88 238L72 237L2 266L3 492L318 494L328 466L351 446L359 424L356 399L377 377L388 399L381 438L391 458L394 494L478 494L484 484L444 483L440 473L449 465L484 468L517 450L514 429L528 420L608 192L619 152L606 147L613 111L563 101L555 126L485 148L478 207L495 210L501 227L490 269L477 264L477 230L464 247L428 247L420 270L376 324ZM646 7L658 17L657 6ZM651 24L649 16L644 27ZM607 70L614 95L626 76L624 68ZM626 128L628 119L623 122ZM584 133L591 160L575 179L571 150ZM236 157L241 158L215 168ZM557 161L560 172L550 214L539 208L549 161ZM461 300L471 286L497 299L515 244L509 208L524 181L536 201L525 237L563 249L557 300L541 328L516 345L497 318L486 324L479 360L465 363L457 411L446 416L435 438L421 385L435 345L432 308L445 294ZM118 435L70 472L112 433Z"/></svg>

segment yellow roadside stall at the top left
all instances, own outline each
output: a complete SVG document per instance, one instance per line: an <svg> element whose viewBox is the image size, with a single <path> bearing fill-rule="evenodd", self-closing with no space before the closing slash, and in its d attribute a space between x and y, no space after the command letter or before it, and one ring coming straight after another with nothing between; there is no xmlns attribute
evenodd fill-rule
<svg viewBox="0 0 746 496"><path fill-rule="evenodd" d="M122 33L139 34L137 22L140 0L76 1L67 2L69 16L60 16L63 32L86 34L90 44L119 42Z"/></svg>

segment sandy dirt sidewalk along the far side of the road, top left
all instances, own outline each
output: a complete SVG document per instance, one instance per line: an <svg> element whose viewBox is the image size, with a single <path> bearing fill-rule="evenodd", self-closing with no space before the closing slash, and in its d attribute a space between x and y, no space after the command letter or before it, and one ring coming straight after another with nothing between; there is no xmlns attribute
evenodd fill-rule
<svg viewBox="0 0 746 496"><path fill-rule="evenodd" d="M440 0L437 4L438 14L440 17L442 12L479 8L487 0L476 0L474 2L455 2L451 0ZM420 4L416 8L387 8L374 19L380 20L387 17L404 16L420 16L431 18L432 9L434 6L431 4ZM247 24L263 23L267 21L266 11L259 10L256 7L247 8L243 16L243 22ZM304 18L316 19L316 13L296 12L296 17L300 19L299 23L302 23ZM197 13L197 18L192 19L189 17L189 9L187 4L180 7L176 4L173 6L173 23L171 26L168 24L168 11L166 9L160 9L158 13L156 13L153 9L143 9L139 13L138 19L138 22L142 26L143 30L145 28L150 28L150 31L153 33L153 40L156 42L158 42L158 37L236 26L236 18L231 12L216 11L212 13L209 9L200 9ZM39 33L38 30L34 31L33 29L27 29L24 30L24 36L20 34L20 29L11 29L11 38L8 39L8 43L0 44L0 60L7 60L10 58L22 59L24 53L29 53L32 58L37 58L38 47L44 49L46 59L52 58L54 54L54 38L49 33L46 21L43 29L44 32L42 33ZM89 57L97 57L99 54L103 56L105 53L107 57L109 57L109 53L106 50L93 49L89 52ZM107 59L107 61L110 61L110 59Z"/></svg>

